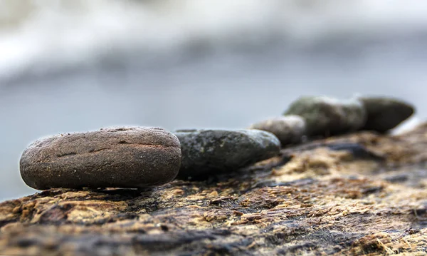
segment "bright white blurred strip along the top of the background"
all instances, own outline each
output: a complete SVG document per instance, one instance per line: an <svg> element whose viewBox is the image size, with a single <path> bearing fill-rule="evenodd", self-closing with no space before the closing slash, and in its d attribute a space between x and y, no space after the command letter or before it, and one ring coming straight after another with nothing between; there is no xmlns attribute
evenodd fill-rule
<svg viewBox="0 0 427 256"><path fill-rule="evenodd" d="M426 11L418 0L2 0L0 78L194 47L378 39L425 31Z"/></svg>

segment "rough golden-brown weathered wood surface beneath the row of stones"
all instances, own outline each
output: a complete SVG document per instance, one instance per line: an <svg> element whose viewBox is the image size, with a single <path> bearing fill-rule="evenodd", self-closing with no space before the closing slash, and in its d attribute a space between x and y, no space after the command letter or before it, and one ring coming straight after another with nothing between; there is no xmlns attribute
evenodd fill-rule
<svg viewBox="0 0 427 256"><path fill-rule="evenodd" d="M0 204L0 255L426 255L426 163L423 124L204 181L46 190Z"/></svg>

